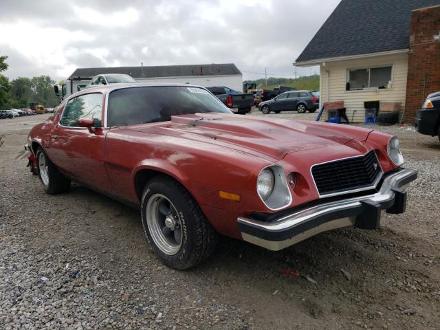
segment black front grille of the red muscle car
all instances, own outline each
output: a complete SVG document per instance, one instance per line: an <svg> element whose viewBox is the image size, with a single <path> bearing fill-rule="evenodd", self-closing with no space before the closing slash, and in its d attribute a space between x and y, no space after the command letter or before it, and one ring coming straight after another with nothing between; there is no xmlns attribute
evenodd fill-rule
<svg viewBox="0 0 440 330"><path fill-rule="evenodd" d="M371 187L381 173L382 169L374 151L364 156L318 164L311 168L320 195Z"/></svg>

